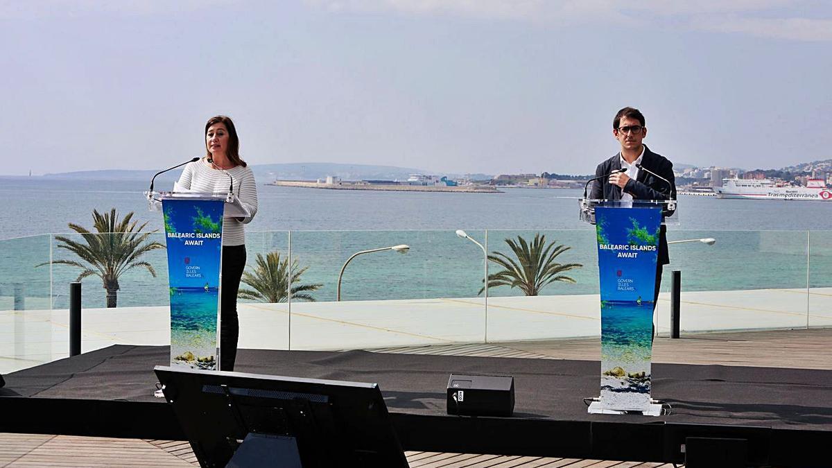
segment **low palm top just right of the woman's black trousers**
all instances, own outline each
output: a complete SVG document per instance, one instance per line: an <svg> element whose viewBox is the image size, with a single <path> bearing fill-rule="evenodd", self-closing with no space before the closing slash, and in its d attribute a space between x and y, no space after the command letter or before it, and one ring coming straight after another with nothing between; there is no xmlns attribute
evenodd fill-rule
<svg viewBox="0 0 832 468"><path fill-rule="evenodd" d="M256 263L255 271L253 273L245 271L242 277L242 282L254 289L240 289L237 296L251 301L285 302L286 291L289 290L287 287L289 285L286 284L289 279L289 259L281 259L279 251L270 251L265 257L258 253ZM290 284L295 285L299 282L300 275L308 269L309 266L298 268L298 261L296 259L292 261ZM305 291L317 291L321 286L324 285L315 283L292 286L290 294L292 299L314 302L314 297L305 294Z"/></svg>

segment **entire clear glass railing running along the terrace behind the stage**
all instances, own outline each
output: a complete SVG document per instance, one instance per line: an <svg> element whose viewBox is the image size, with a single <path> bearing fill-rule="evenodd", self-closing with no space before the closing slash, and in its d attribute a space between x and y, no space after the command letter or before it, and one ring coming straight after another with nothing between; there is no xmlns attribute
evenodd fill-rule
<svg viewBox="0 0 832 468"><path fill-rule="evenodd" d="M533 255L536 236L541 250L559 251L552 258L557 278L547 284L535 276L542 265L522 261ZM670 241L694 241L670 246L659 334L670 330L673 270L681 271L683 332L832 326L830 236L671 230ZM708 237L716 243L696 241ZM242 348L379 348L600 332L592 229L248 232L246 239ZM165 240L156 232L146 241ZM169 344L166 251L137 257L156 276L143 264L124 271L116 307L107 307L102 278L80 255L85 244L77 233L0 241L0 373L67 356L69 283L87 267L93 273L82 278L82 351ZM483 250L493 257L488 291ZM291 271L291 284L282 277L263 286L258 276L272 267Z"/></svg>

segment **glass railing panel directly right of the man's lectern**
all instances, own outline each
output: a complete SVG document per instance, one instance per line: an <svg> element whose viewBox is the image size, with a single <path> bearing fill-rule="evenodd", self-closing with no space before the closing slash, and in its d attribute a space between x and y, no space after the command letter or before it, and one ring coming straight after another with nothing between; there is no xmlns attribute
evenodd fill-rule
<svg viewBox="0 0 832 468"><path fill-rule="evenodd" d="M792 231L671 231L658 303L670 331L671 272L681 271L681 331L805 327L807 235Z"/></svg>

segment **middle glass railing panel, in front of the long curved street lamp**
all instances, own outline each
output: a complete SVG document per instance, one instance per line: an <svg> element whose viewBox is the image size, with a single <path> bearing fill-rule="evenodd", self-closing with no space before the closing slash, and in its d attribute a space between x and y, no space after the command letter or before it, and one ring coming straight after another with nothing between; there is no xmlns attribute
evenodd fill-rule
<svg viewBox="0 0 832 468"><path fill-rule="evenodd" d="M291 303L292 349L483 341L483 251L453 231L292 232L291 241L308 268L299 283L320 285L314 301Z"/></svg>

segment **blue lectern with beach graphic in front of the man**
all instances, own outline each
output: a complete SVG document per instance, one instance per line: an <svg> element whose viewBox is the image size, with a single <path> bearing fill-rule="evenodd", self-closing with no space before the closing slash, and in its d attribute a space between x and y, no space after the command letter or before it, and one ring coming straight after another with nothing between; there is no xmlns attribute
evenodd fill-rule
<svg viewBox="0 0 832 468"><path fill-rule="evenodd" d="M601 394L590 413L661 414L651 400L653 295L661 224L677 223L676 201L581 200L595 224L601 284Z"/></svg>

